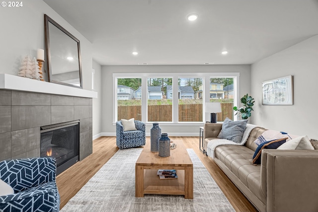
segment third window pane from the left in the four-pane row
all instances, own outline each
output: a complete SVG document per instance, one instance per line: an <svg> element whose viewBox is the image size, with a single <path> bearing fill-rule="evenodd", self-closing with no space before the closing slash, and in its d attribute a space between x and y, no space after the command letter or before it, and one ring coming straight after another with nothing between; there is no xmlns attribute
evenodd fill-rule
<svg viewBox="0 0 318 212"><path fill-rule="evenodd" d="M202 95L203 78L179 78L178 86L178 121L179 122L202 122L203 101Z"/></svg>

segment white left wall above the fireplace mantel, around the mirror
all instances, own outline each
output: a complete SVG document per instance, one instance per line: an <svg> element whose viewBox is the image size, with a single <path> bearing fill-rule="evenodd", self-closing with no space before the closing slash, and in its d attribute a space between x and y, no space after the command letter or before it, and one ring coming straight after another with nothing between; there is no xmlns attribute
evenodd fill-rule
<svg viewBox="0 0 318 212"><path fill-rule="evenodd" d="M79 39L83 89L91 90L92 44L43 0L26 0L22 7L0 8L0 73L17 75L25 56L36 57L37 49L45 49L44 14ZM95 63L94 68L100 95L101 67ZM46 69L43 75L47 79ZM93 100L93 135L100 133L100 101Z"/></svg>

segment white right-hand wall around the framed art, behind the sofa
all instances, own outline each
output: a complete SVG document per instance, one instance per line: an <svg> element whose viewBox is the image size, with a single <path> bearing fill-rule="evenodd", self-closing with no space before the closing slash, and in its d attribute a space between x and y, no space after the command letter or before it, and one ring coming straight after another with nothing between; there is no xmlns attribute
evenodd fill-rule
<svg viewBox="0 0 318 212"><path fill-rule="evenodd" d="M261 82L294 76L294 105L262 105ZM251 66L254 124L270 130L318 139L318 35Z"/></svg>

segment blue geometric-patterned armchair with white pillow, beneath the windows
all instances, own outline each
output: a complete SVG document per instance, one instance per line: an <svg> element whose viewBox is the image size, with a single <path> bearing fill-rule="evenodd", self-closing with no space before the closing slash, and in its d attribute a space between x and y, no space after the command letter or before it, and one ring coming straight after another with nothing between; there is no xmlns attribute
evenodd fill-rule
<svg viewBox="0 0 318 212"><path fill-rule="evenodd" d="M146 125L135 120L135 131L124 131L121 121L116 122L116 145L120 149L143 146L146 144Z"/></svg>

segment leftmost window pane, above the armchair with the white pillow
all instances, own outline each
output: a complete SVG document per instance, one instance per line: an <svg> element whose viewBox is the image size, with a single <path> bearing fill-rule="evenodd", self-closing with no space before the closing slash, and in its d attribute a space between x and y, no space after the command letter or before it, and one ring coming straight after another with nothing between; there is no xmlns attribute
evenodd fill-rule
<svg viewBox="0 0 318 212"><path fill-rule="evenodd" d="M117 78L116 84L117 120L135 118L141 121L141 78Z"/></svg>

